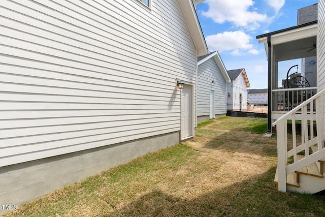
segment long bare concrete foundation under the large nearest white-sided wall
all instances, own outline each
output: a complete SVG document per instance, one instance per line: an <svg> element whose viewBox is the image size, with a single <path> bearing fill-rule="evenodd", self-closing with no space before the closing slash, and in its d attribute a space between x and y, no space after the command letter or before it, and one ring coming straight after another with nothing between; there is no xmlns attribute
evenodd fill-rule
<svg viewBox="0 0 325 217"><path fill-rule="evenodd" d="M1 167L0 214L66 184L125 164L148 152L177 144L179 139L180 133L173 132Z"/></svg>

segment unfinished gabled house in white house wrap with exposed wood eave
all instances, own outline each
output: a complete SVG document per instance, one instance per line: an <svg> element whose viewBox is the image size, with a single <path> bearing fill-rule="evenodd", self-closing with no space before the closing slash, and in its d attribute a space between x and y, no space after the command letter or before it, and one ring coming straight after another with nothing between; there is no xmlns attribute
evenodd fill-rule
<svg viewBox="0 0 325 217"><path fill-rule="evenodd" d="M247 88L250 84L245 69L229 70L228 75L231 82L226 84L227 110L246 110Z"/></svg>

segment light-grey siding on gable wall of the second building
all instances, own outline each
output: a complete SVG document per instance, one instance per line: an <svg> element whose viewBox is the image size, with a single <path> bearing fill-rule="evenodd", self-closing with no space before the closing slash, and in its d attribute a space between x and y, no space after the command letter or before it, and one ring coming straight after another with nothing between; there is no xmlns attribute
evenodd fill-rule
<svg viewBox="0 0 325 217"><path fill-rule="evenodd" d="M214 83L212 84L212 81ZM213 58L198 67L198 111L197 115L210 114L210 90L215 91L215 114L226 113L225 80Z"/></svg>

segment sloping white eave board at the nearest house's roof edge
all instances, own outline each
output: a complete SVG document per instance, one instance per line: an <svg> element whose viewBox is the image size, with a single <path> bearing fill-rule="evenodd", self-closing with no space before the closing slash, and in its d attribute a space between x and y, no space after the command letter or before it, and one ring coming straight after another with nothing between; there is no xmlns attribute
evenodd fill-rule
<svg viewBox="0 0 325 217"><path fill-rule="evenodd" d="M179 0L178 2L183 11L183 15L185 17L194 46L197 49L197 56L208 54L208 47L205 42L197 12L194 8L192 0Z"/></svg>

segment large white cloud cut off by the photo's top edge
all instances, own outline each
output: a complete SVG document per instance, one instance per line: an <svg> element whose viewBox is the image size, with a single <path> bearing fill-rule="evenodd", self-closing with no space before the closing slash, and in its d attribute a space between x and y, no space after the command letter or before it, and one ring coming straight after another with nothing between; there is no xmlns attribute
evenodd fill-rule
<svg viewBox="0 0 325 217"><path fill-rule="evenodd" d="M272 1L272 0L270 0ZM245 27L249 30L257 29L261 22L267 22L266 14L259 14L254 8L252 0L224 1L206 0L209 6L208 11L201 12L204 16L210 17L216 23L226 21L233 23L236 27Z"/></svg>

